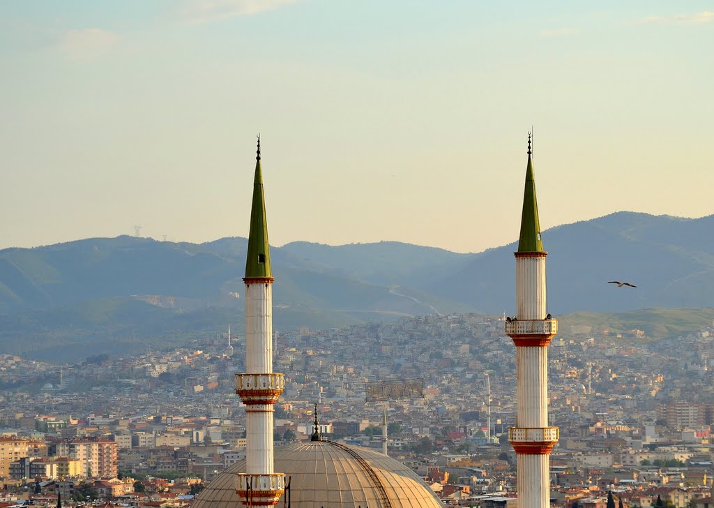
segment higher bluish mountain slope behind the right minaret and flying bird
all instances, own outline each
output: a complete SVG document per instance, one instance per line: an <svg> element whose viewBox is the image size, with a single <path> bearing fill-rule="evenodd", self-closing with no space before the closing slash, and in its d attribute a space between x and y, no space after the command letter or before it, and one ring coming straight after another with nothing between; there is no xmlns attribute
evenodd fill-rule
<svg viewBox="0 0 714 508"><path fill-rule="evenodd" d="M619 212L543 231L548 309L623 312L647 307L714 307L714 216L680 219ZM516 243L489 249L428 292L483 312L513 309ZM636 289L617 288L629 281Z"/></svg>

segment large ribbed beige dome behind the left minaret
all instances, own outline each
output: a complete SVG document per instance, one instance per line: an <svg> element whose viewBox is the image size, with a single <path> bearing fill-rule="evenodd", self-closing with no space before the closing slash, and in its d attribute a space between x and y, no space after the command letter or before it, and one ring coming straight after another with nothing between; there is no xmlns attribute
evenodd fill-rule
<svg viewBox="0 0 714 508"><path fill-rule="evenodd" d="M192 508L238 508L236 473L243 460L218 475ZM292 508L443 507L436 494L401 462L370 449L330 441L275 448L275 471L291 481ZM283 499L278 507L283 506Z"/></svg>

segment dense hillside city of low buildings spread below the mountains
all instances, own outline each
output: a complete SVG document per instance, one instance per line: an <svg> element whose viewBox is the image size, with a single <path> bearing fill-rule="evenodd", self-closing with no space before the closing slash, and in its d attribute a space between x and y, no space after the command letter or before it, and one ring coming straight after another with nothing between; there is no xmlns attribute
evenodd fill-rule
<svg viewBox="0 0 714 508"><path fill-rule="evenodd" d="M654 342L638 330L614 337L571 328L550 347L550 418L560 427L550 469L555 506L605 507L611 491L626 506L648 507L659 496L705 508L714 475L714 327ZM228 337L63 366L1 356L2 502L54 504L59 493L65 502L189 504L245 456L245 411L233 390L244 342ZM508 505L516 370L503 317L303 328L276 332L273 343L286 376L277 448L309 438L318 404L326 436L381 449L384 404L365 402L365 383L423 379L423 397L388 402L389 455L444 502Z"/></svg>

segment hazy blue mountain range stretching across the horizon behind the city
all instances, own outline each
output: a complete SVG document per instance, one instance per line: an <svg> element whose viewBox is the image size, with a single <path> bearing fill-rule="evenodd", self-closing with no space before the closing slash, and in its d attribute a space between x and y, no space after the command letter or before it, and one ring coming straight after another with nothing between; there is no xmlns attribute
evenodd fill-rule
<svg viewBox="0 0 714 508"><path fill-rule="evenodd" d="M714 307L712 231L714 215L633 212L544 231L548 310ZM246 245L119 236L1 250L0 352L75 359L162 347L228 323L240 329ZM271 247L275 327L513 312L515 250L457 254L393 241ZM638 288L605 283L615 279Z"/></svg>

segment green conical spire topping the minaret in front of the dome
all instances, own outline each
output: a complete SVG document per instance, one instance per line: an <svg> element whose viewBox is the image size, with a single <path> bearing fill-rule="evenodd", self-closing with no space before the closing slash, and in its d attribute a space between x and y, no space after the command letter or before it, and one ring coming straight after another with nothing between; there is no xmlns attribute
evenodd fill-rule
<svg viewBox="0 0 714 508"><path fill-rule="evenodd" d="M251 232L248 234L248 257L246 258L246 279L251 279L253 277L273 277L270 271L270 246L268 246L266 202L265 197L263 196L260 135L258 135L258 154L256 155L256 176L255 179L253 179Z"/></svg>

